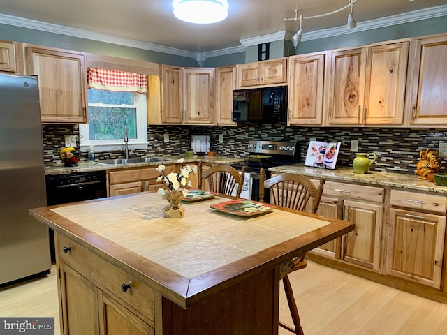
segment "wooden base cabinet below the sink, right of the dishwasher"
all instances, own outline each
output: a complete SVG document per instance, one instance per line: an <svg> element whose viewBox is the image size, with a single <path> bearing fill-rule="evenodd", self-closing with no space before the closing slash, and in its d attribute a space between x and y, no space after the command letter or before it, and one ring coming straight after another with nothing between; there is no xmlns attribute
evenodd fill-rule
<svg viewBox="0 0 447 335"><path fill-rule="evenodd" d="M166 174L176 172L179 166L175 164L165 165ZM177 167L177 168L176 168ZM140 192L156 192L161 183L156 181L160 172L154 167L123 168L119 170L110 170L108 175L109 197L115 195L126 195Z"/></svg>

